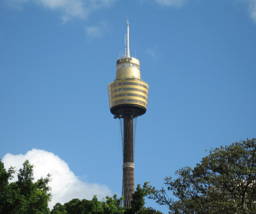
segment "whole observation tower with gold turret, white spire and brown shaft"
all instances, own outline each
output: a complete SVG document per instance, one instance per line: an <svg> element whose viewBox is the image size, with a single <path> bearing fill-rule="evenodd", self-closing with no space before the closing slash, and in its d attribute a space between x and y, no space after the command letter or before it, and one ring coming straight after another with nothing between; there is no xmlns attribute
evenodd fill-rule
<svg viewBox="0 0 256 214"><path fill-rule="evenodd" d="M116 79L108 85L110 112L120 119L123 152L122 205L131 207L134 185L134 143L137 117L147 109L148 84L141 80L140 62L130 56L129 22L125 55L116 61Z"/></svg>

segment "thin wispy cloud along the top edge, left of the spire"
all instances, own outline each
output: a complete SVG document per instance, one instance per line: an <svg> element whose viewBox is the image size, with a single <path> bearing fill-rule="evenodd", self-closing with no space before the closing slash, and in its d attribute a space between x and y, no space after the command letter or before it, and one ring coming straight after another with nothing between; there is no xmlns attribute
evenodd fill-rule
<svg viewBox="0 0 256 214"><path fill-rule="evenodd" d="M51 10L59 10L62 20L66 22L71 18L84 19L89 13L108 7L115 0L8 0L13 5L22 5L25 2L34 2ZM14 4L16 3L16 4ZM9 3L10 4L10 3Z"/></svg>

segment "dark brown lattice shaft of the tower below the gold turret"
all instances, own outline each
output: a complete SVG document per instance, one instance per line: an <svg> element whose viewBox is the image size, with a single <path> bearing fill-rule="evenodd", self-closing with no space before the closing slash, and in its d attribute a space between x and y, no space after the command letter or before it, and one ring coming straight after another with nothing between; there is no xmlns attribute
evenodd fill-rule
<svg viewBox="0 0 256 214"><path fill-rule="evenodd" d="M130 111L123 113L123 181L122 197L123 206L131 207L134 185L134 139L133 139L133 117Z"/></svg>

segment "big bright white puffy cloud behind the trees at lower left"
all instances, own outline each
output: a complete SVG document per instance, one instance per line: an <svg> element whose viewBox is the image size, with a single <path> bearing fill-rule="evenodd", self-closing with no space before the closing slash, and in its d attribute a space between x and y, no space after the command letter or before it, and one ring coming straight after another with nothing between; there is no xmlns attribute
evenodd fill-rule
<svg viewBox="0 0 256 214"><path fill-rule="evenodd" d="M52 174L52 181L49 185L52 187L53 195L52 201L49 203L50 209L57 202L64 204L73 198L92 199L93 195L98 195L98 198L101 199L105 196L112 195L111 190L105 185L80 181L69 169L67 163L51 152L32 149L25 155L12 155L8 153L3 157L2 162L5 164L6 169L10 166L15 166L18 172L26 159L29 160L30 164L35 166L35 180L40 177L46 177L48 173ZM17 175L11 182L16 180Z"/></svg>

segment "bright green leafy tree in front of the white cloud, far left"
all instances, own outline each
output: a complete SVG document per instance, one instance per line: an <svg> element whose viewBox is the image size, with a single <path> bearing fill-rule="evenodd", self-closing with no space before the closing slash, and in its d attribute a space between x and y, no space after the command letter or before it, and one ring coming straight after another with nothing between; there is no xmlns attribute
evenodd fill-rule
<svg viewBox="0 0 256 214"><path fill-rule="evenodd" d="M48 202L52 195L48 183L51 181L51 176L48 174L33 183L33 167L26 160L23 168L19 170L18 180L9 183L15 170L10 167L6 171L0 161L0 214L50 213Z"/></svg>

